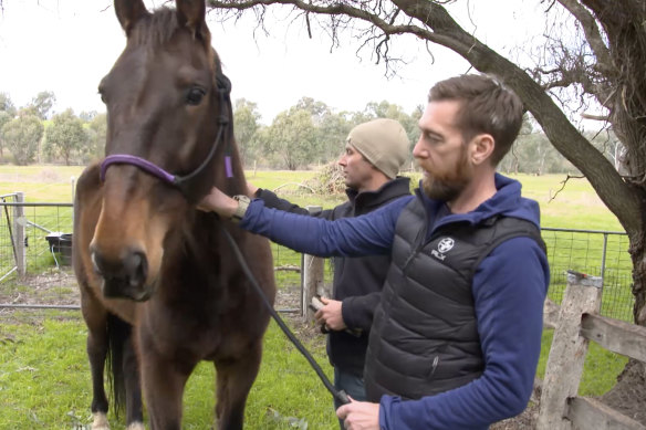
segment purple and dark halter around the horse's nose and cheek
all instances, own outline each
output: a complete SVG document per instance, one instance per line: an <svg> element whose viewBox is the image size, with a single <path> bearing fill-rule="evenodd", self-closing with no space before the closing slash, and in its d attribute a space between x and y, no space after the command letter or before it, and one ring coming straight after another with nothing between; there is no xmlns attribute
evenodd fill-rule
<svg viewBox="0 0 646 430"><path fill-rule="evenodd" d="M164 170L162 167L155 165L154 162L148 161L145 158L142 157L137 157L135 155L129 155L129 154L114 154L114 155L110 155L107 157L105 157L105 159L101 162L101 172L100 172L100 178L101 181L103 182L105 180L105 172L107 171L107 168L111 165L132 165L132 166L136 166L139 169L144 170L145 172L153 175L154 177L163 180L164 182L167 182L174 187L179 188L180 190L183 190L184 192L184 187L186 186L186 183L195 178L196 176L198 176L211 161L211 159L213 158L213 156L216 155L216 151L218 149L218 147L220 146L220 143L222 141L222 135L223 135L223 130L227 127L227 125L229 124L229 115L227 112L227 106L230 105L230 93L231 93L231 81L229 81L229 78L222 74L222 73L218 73L216 75L216 87L218 91L218 97L219 97L219 102L220 102L220 115L218 116L218 135L216 136L216 141L213 143L213 146L211 147L211 150L209 151L209 154L207 155L207 158L205 158L205 160L201 162L201 165L199 165L195 170L192 170L190 174L188 175L184 175L184 176L179 176L179 175L173 175L169 174L168 171ZM231 168L231 157L230 155L227 155L225 157L225 169L227 172L227 177L231 178L233 176L233 171Z"/></svg>

